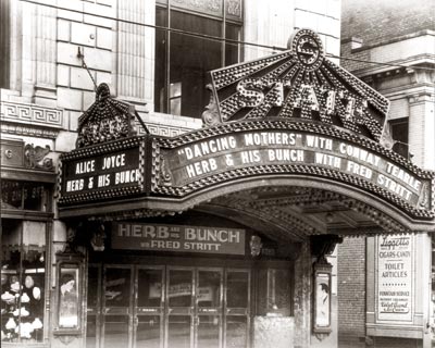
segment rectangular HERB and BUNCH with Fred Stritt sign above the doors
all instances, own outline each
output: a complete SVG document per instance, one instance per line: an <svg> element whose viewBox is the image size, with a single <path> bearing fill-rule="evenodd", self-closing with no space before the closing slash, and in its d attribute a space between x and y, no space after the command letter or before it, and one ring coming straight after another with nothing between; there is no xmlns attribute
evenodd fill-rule
<svg viewBox="0 0 435 348"><path fill-rule="evenodd" d="M245 254L245 229L140 223L114 223L112 248Z"/></svg>

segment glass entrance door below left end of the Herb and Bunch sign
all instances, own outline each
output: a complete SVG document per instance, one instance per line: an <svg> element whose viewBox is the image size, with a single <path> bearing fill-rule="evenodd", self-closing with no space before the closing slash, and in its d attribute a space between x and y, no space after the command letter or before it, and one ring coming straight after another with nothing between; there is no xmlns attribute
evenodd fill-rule
<svg viewBox="0 0 435 348"><path fill-rule="evenodd" d="M132 266L104 266L101 347L132 346Z"/></svg>

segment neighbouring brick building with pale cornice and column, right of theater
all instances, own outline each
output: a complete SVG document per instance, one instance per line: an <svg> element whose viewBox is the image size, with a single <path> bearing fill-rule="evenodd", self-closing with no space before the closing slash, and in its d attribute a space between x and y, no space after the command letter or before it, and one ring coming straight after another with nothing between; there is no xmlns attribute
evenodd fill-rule
<svg viewBox="0 0 435 348"><path fill-rule="evenodd" d="M435 169L434 15L434 3L426 1L347 0L341 13L341 65L391 101L389 123L396 140L393 148L430 170ZM373 238L359 238L357 243L348 239L339 247L340 260L358 261L340 263L343 268L338 269L339 347L431 347L433 304L427 285L432 278L432 238L424 234L417 238L420 249L415 262L421 266L414 276L423 281L414 296L421 300L421 320L418 327L398 324L393 332L374 328L376 324L370 319L374 309L370 303L378 301L373 284ZM349 307L349 299L358 306ZM377 324L382 326L382 321ZM408 330L413 334L408 335Z"/></svg>

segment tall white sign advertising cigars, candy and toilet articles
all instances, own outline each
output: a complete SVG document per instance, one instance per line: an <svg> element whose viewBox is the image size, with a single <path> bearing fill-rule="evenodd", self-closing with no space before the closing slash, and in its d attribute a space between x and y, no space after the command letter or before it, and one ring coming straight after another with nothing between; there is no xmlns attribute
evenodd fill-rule
<svg viewBox="0 0 435 348"><path fill-rule="evenodd" d="M412 321L413 236L380 236L377 249L377 320Z"/></svg>

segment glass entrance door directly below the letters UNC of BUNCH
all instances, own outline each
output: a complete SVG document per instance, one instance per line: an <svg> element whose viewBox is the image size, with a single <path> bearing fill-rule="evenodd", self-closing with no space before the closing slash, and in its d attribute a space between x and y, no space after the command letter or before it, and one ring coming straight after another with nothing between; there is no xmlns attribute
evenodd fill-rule
<svg viewBox="0 0 435 348"><path fill-rule="evenodd" d="M195 337L197 348L222 347L223 270L198 269L195 289Z"/></svg>

